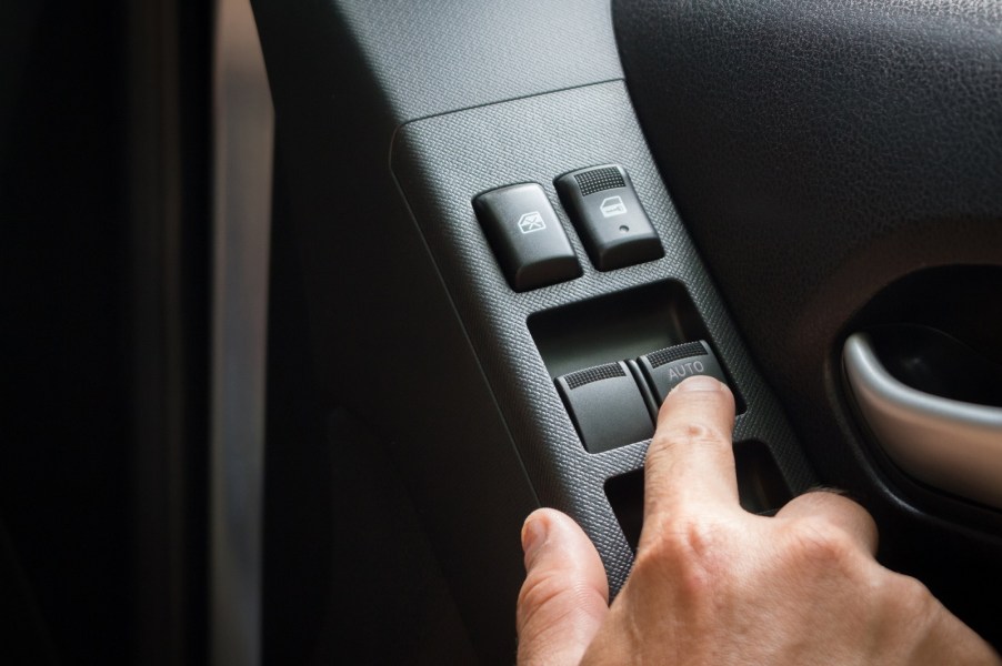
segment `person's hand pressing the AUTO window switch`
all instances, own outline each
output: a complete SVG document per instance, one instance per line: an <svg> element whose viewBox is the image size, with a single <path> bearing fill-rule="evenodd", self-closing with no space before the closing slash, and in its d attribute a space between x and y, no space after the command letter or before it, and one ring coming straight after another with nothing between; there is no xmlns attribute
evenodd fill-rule
<svg viewBox="0 0 1002 666"><path fill-rule="evenodd" d="M734 398L710 377L668 396L645 465L632 573L611 607L594 546L542 508L522 529L519 664L1002 664L914 578L874 559L851 500L738 503Z"/></svg>

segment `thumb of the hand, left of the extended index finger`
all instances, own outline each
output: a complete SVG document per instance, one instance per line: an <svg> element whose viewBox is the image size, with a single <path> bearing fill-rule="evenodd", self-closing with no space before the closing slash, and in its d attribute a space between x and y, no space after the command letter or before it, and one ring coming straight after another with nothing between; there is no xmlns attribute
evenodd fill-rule
<svg viewBox="0 0 1002 666"><path fill-rule="evenodd" d="M552 508L525 518L522 549L519 665L578 664L609 612L599 553L574 521Z"/></svg>

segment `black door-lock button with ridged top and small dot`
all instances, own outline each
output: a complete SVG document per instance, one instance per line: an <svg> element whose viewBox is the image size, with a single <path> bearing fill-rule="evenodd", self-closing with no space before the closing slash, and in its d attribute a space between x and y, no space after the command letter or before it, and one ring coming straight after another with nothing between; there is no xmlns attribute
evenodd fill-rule
<svg viewBox="0 0 1002 666"><path fill-rule="evenodd" d="M619 164L572 171L555 184L591 262L600 271L664 256L633 183Z"/></svg>

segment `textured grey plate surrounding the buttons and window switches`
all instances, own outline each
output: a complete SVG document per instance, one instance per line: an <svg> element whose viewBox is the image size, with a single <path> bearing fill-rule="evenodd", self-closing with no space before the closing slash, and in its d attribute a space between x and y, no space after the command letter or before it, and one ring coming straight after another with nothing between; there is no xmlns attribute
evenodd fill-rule
<svg viewBox="0 0 1002 666"><path fill-rule="evenodd" d="M512 292L487 245L471 198L499 182L547 183L552 174L581 164L608 162L629 170L665 256L604 273L582 262L583 274L577 280ZM408 123L397 133L392 168L540 502L569 512L582 525L602 556L613 594L632 565L632 552L603 485L611 476L639 468L645 445L638 442L600 454L584 451L527 326L533 315L605 296L612 316L615 296L637 287L670 294L678 283L684 284L707 337L714 341L748 403L737 418L735 440L766 443L792 490L801 492L813 484L782 412L753 370L679 222L621 82ZM554 192L548 189L548 194ZM569 235L580 254L580 239ZM640 353L651 349L657 347Z"/></svg>

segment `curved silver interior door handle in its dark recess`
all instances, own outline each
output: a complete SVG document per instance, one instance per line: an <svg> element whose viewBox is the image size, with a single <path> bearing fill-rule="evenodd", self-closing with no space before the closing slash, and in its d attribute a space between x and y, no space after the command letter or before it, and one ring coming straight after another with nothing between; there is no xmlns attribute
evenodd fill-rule
<svg viewBox="0 0 1002 666"><path fill-rule="evenodd" d="M900 382L866 333L845 341L842 364L863 417L894 463L932 486L1002 508L1002 407Z"/></svg>

